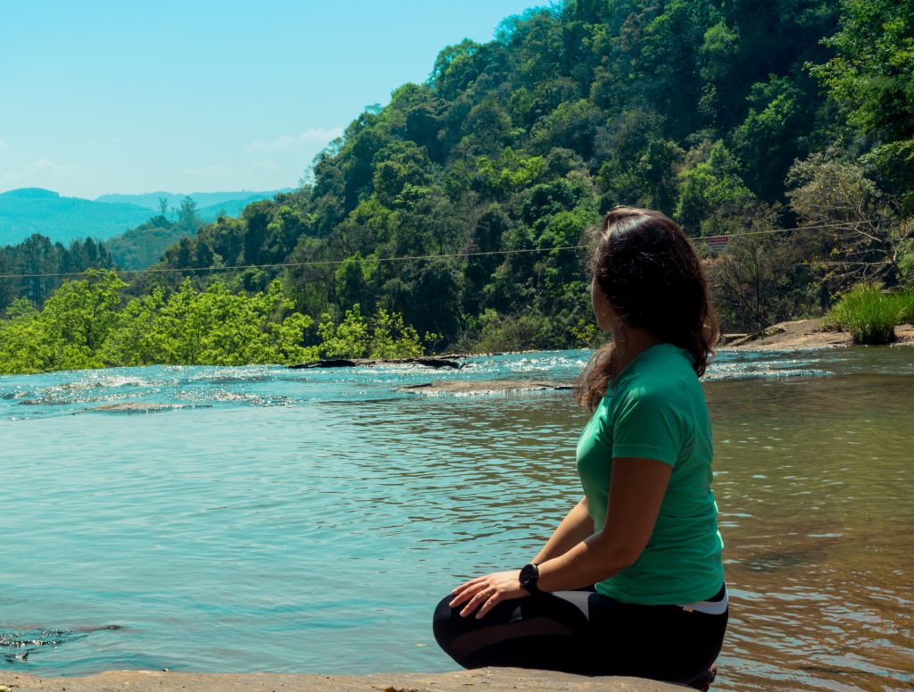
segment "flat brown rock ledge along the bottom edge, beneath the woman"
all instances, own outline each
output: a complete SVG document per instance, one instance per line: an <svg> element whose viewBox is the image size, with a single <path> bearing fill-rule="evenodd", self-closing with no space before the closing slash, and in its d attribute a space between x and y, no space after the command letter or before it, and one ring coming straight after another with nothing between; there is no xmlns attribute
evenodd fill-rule
<svg viewBox="0 0 914 692"><path fill-rule="evenodd" d="M37 677L23 673L0 672L0 692L467 692L468 688L489 692L682 692L684 689L681 686L638 677L583 677L521 668L480 668L454 673L389 673L370 676L296 676L272 673L204 675L112 670L87 677Z"/></svg>

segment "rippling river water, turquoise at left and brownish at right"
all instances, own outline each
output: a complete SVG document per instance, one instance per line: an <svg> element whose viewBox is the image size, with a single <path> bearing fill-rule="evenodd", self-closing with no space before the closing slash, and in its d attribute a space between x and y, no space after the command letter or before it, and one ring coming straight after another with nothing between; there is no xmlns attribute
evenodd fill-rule
<svg viewBox="0 0 914 692"><path fill-rule="evenodd" d="M578 499L586 414L399 388L568 381L587 355L0 378L0 666L452 669L431 607L537 551ZM904 347L711 367L734 595L716 688L909 688L912 376ZM141 407L98 410L120 403Z"/></svg>

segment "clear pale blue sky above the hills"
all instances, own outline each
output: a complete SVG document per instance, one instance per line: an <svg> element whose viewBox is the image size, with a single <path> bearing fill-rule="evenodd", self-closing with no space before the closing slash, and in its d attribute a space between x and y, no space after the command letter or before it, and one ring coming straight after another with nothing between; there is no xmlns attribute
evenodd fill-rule
<svg viewBox="0 0 914 692"><path fill-rule="evenodd" d="M296 186L368 104L536 0L0 0L0 192Z"/></svg>

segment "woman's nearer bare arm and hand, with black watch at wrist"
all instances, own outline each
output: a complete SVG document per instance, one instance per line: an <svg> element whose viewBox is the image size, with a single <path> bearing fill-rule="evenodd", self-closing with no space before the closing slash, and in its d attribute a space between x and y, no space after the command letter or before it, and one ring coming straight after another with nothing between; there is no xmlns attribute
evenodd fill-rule
<svg viewBox="0 0 914 692"><path fill-rule="evenodd" d="M668 463L654 459L613 459L610 501L602 530L540 564L539 589L579 589L632 565L654 532L672 472ZM451 607L465 603L461 615L475 611L481 618L496 603L527 595L518 575L518 570L511 570L467 581L453 591Z"/></svg>

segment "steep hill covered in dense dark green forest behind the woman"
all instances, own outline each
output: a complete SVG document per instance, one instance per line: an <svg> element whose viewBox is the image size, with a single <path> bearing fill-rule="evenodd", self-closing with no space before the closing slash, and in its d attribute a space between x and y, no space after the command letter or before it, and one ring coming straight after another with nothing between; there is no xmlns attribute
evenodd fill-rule
<svg viewBox="0 0 914 692"><path fill-rule="evenodd" d="M821 310L861 279L909 281L912 16L914 0L531 9L361 113L312 185L203 227L164 264L296 263L235 285L282 271L304 314L360 303L448 344L503 347L592 337L581 258L564 248L616 204L693 236L827 227L744 236L709 260L729 328ZM387 261L427 255L445 257ZM133 291L177 281L163 276Z"/></svg>

